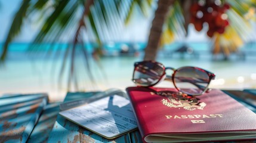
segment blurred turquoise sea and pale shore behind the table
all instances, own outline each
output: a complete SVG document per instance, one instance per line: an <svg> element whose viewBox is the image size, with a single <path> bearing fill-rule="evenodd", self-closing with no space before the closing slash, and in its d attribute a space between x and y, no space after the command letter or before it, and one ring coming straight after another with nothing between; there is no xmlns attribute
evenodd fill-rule
<svg viewBox="0 0 256 143"><path fill-rule="evenodd" d="M239 54L233 54L227 61L212 60L213 57L209 54L211 43L207 42L187 43L196 56L171 54L182 44L177 42L162 48L159 51L158 61L166 67L196 66L212 71L217 75L217 79L211 83L212 88L256 88L256 52L254 52L256 46L254 44L249 43L240 49L245 53L245 57L241 58ZM66 66L61 66L68 46L55 44L53 50L49 51L50 44L44 44L38 45L37 52L27 52L28 45L28 43L10 45L8 58L0 66L0 94L47 92L51 100L62 100L67 91L70 57L67 58ZM87 44L89 55L91 55L93 46ZM120 51L125 46L132 46L139 54L121 56ZM78 89L72 86L72 91L125 89L127 86L134 86L131 82L133 63L143 59L145 46L146 43L106 43L104 45L106 56L101 57L98 62L92 60L91 56L88 58L91 74L87 70L85 57L81 54L81 50L78 50L75 54L73 70L77 75ZM221 59L221 55L217 58ZM64 72L60 78L61 68ZM94 82L91 82L91 77ZM158 86L171 87L172 83L163 82Z"/></svg>

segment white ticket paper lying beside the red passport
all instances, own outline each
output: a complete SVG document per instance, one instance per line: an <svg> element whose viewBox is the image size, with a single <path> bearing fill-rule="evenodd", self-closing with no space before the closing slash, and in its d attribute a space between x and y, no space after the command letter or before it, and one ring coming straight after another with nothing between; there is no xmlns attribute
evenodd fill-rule
<svg viewBox="0 0 256 143"><path fill-rule="evenodd" d="M109 139L137 128L129 100L119 95L61 111L60 115Z"/></svg>

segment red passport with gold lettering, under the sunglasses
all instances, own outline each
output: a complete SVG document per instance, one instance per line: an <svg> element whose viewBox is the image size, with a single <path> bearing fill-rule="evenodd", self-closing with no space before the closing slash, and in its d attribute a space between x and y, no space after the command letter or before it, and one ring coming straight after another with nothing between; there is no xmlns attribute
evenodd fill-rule
<svg viewBox="0 0 256 143"><path fill-rule="evenodd" d="M176 89L127 88L143 141L256 139L256 114L218 89L183 97Z"/></svg>

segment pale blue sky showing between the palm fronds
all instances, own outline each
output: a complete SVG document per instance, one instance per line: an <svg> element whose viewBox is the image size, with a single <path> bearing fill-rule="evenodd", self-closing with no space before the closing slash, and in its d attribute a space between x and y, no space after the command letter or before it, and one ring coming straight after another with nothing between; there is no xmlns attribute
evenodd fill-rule
<svg viewBox="0 0 256 143"><path fill-rule="evenodd" d="M5 41L5 37L10 29L11 21L13 20L14 15L16 14L18 8L20 7L21 0L0 0L0 43ZM137 13L135 13L136 15ZM136 18L137 17L137 18ZM140 18L140 23L138 24L138 18ZM140 16L135 16L125 27L124 33L119 39L120 41L138 41L146 42L149 30L150 30L150 21L152 17L142 18ZM38 31L38 26L29 24L29 21L25 21L23 24L20 35L14 39L14 42L30 42L35 37L36 32ZM187 38L187 41L205 41L207 40L205 33L198 33L193 30L193 27L190 28L190 35Z"/></svg>

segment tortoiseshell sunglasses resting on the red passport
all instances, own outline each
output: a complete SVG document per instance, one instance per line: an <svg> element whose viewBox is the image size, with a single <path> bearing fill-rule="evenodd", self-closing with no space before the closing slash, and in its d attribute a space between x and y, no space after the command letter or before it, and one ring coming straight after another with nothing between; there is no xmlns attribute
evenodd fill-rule
<svg viewBox="0 0 256 143"><path fill-rule="evenodd" d="M171 76L166 70L172 70ZM134 63L132 81L138 86L154 86L161 80L170 80L175 88L187 95L202 95L208 92L208 86L215 74L198 67L180 67L174 69L165 67L156 61L141 61Z"/></svg>

